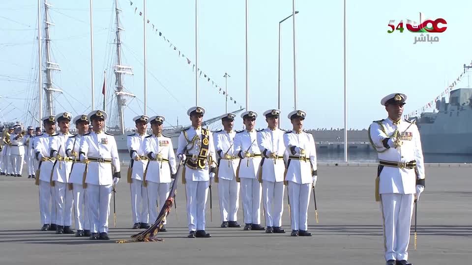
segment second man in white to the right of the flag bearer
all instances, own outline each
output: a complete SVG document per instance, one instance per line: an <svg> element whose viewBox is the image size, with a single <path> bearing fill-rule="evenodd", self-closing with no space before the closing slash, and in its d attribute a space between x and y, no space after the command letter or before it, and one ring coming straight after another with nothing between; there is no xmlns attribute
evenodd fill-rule
<svg viewBox="0 0 472 265"><path fill-rule="evenodd" d="M261 151L257 145L257 132L254 129L257 113L241 113L245 130L235 136L235 156L240 158L236 169L236 181L241 184L242 209L244 211L244 230L266 230L261 226L262 187L258 180L261 164Z"/></svg>

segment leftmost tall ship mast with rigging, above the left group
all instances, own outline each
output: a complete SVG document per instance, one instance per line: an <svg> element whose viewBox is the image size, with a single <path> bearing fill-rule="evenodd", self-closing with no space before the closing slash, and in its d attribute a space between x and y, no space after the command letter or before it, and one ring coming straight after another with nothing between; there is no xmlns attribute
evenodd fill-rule
<svg viewBox="0 0 472 265"><path fill-rule="evenodd" d="M62 93L62 90L59 88L53 87L53 71L60 71L59 64L53 61L53 58L51 57L51 33L50 33L50 28L51 26L55 26L54 23L50 21L50 16L49 16L49 8L52 5L47 2L47 0L44 1L44 25L45 25L45 30L44 30L44 51L46 56L44 57L45 59L45 65L46 68L44 70L44 75L46 77L45 79L45 87L44 92L46 94L46 97L44 98L45 100L45 105L43 108L43 115L53 115L55 114L55 109L54 109L54 94L55 93Z"/></svg>

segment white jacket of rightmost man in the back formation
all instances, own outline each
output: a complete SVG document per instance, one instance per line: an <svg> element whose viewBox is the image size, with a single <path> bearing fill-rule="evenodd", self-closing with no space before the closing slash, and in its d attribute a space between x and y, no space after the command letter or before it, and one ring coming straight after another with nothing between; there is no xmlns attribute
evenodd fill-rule
<svg viewBox="0 0 472 265"><path fill-rule="evenodd" d="M286 157L306 158L304 160L288 160L285 181L291 181L296 184L313 183L312 172L317 170L315 140L313 139L313 135L303 131L300 133L295 131L286 132L284 133L284 143L287 146ZM299 152L295 152L295 154L293 154L291 150L292 147L301 148L305 153L300 154Z"/></svg>

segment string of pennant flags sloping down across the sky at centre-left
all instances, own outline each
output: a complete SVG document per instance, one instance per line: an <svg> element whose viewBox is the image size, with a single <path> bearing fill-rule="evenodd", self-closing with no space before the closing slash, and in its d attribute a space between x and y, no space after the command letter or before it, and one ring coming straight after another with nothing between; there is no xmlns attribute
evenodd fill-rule
<svg viewBox="0 0 472 265"><path fill-rule="evenodd" d="M139 14L139 16L143 16L143 12L142 11L139 11L138 12L138 7L136 6L136 4L133 2L133 1L129 1L129 5L131 7L134 6L134 13L136 15ZM210 76L208 74L206 74L205 72L203 72L200 68L197 68L195 69L195 63L193 63L187 56L185 56L185 54L183 52L181 52L168 38L166 38L166 36L164 35L164 33L162 33L162 31L159 31L159 29L157 28L156 25L154 25L149 19L147 19L146 21L148 24L149 24L149 27L152 27L152 31L154 32L154 34L159 34L159 37L162 37L162 40L164 40L165 42L169 43L169 48L170 49L173 49L174 51L176 51L176 53L178 53L178 58L184 58L185 61L187 63L188 66L192 65L192 72L195 72L197 71L199 74L198 74L198 77L199 78L203 78L205 80L207 80L207 82L209 83L211 81L211 86L218 89L218 94L223 94L225 97L227 97L229 99L230 102L234 103L235 105L239 105L239 108L242 108L242 105L239 104L238 102L236 102L236 99L233 99L233 96L230 96L228 93L226 93L226 91L221 87L219 86L213 79L210 78Z"/></svg>

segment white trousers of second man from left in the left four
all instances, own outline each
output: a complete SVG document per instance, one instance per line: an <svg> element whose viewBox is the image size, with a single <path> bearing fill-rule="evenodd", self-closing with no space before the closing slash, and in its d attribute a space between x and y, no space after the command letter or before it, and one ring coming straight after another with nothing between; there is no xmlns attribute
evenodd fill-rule
<svg viewBox="0 0 472 265"><path fill-rule="evenodd" d="M72 190L69 190L67 183L55 181L56 190L56 224L63 226L72 225L72 204L74 201Z"/></svg>

